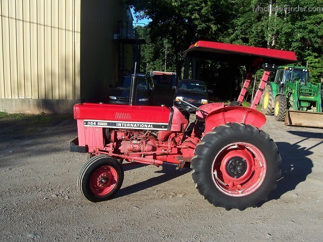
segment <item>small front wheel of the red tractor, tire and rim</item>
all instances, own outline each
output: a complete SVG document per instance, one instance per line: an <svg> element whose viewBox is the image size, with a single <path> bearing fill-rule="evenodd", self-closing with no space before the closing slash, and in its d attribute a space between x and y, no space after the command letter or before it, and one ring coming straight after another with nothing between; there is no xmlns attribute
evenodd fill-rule
<svg viewBox="0 0 323 242"><path fill-rule="evenodd" d="M119 161L107 155L95 155L83 165L77 179L79 190L87 200L101 202L119 191L123 178Z"/></svg>

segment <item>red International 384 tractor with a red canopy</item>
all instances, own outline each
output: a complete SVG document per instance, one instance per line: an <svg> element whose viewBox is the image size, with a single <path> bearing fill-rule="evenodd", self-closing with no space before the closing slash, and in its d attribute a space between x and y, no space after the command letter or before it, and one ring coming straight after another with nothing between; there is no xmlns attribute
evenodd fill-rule
<svg viewBox="0 0 323 242"><path fill-rule="evenodd" d="M112 198L122 186L123 166L129 163L190 167L204 199L227 210L255 207L276 188L282 159L276 143L260 130L266 118L255 109L270 69L295 63L295 53L198 41L185 55L246 65L250 73L238 102L202 105L189 124L187 113L176 106L133 105L133 75L129 106L76 104L78 138L70 148L90 157L78 175L78 188L86 199ZM262 66L269 71L262 76L251 108L242 107L252 73Z"/></svg>

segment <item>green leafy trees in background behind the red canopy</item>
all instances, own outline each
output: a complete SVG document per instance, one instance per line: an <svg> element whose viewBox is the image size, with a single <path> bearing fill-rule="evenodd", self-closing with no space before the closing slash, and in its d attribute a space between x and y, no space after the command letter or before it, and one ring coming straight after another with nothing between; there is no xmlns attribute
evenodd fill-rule
<svg viewBox="0 0 323 242"><path fill-rule="evenodd" d="M187 67L183 51L197 40L212 40L295 51L298 65L312 69L312 82L323 80L323 12L309 8L323 7L321 3L321 0L129 1L137 17L152 20L148 25L148 44L142 46L142 66L148 71L165 69L167 46L166 69L176 69L181 76L184 66ZM257 11L258 6L262 11L259 8ZM298 6L307 10L292 9ZM237 97L246 76L243 68L209 61L199 64L197 76L208 83L214 95L223 95L219 97L224 100Z"/></svg>

